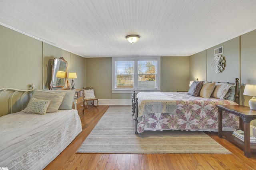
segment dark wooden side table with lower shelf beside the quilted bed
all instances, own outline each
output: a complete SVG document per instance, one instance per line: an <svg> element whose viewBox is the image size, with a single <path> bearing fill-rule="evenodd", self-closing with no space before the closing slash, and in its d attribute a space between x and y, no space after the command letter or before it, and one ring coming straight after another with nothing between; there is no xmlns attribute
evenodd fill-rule
<svg viewBox="0 0 256 170"><path fill-rule="evenodd" d="M218 136L225 136L230 142L244 149L244 155L251 157L251 152L256 152L256 143L250 143L250 122L256 119L256 110L243 105L216 105L219 109ZM244 124L244 142L232 135L232 131L222 131L222 111L239 116Z"/></svg>

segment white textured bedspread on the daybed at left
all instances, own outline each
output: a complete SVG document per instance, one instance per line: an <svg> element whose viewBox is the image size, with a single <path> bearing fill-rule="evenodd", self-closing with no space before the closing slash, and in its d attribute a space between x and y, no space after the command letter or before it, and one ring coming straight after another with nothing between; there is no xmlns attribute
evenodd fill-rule
<svg viewBox="0 0 256 170"><path fill-rule="evenodd" d="M0 117L0 167L40 170L82 131L77 110L38 115L18 112Z"/></svg>

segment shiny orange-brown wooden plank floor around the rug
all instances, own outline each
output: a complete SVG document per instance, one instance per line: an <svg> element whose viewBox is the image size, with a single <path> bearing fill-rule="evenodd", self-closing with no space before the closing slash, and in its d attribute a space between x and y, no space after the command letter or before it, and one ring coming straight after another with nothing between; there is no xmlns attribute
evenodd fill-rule
<svg viewBox="0 0 256 170"><path fill-rule="evenodd" d="M219 138L217 132L207 132L233 154L76 154L76 150L98 123L108 106L100 105L80 115L83 131L45 170L255 170L256 154L244 156L243 150ZM132 119L132 118L131 118ZM135 135L135 134L134 134Z"/></svg>

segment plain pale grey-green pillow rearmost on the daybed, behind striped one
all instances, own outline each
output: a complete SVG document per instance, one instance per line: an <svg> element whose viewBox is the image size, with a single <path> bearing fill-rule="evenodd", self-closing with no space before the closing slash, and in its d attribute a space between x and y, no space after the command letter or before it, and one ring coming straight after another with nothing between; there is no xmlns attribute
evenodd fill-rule
<svg viewBox="0 0 256 170"><path fill-rule="evenodd" d="M51 90L44 90L44 91L51 91ZM59 110L71 110L73 106L73 100L76 93L76 89L73 90L55 90L52 92L56 93L65 93L65 96L62 100Z"/></svg>

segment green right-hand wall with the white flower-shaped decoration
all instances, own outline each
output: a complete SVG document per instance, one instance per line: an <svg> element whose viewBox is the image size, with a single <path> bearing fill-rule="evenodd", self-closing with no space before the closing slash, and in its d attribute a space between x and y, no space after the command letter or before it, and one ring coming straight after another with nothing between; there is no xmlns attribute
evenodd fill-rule
<svg viewBox="0 0 256 170"><path fill-rule="evenodd" d="M214 49L222 45L224 53L221 55L226 60L226 66L221 73L214 73L211 68ZM189 58L190 81L194 80L195 77L202 77L202 80L207 81L234 83L235 78L239 78L241 85L240 104L248 106L248 100L252 97L244 96L243 91L245 84L256 84L256 30L191 55Z"/></svg>

